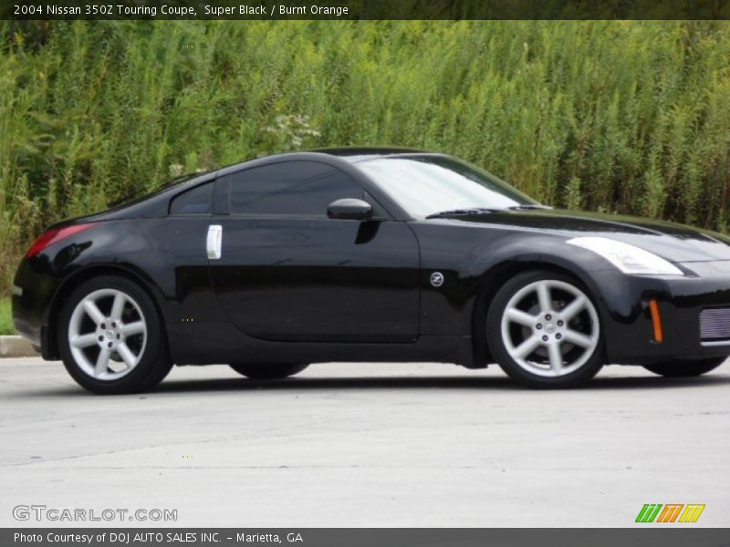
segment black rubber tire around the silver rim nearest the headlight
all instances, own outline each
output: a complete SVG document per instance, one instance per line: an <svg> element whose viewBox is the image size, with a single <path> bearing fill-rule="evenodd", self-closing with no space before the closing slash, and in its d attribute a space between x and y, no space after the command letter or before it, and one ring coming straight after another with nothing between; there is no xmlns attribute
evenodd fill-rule
<svg viewBox="0 0 730 547"><path fill-rule="evenodd" d="M585 312L580 313L579 321L582 321L583 324L589 325L589 329L591 329L589 332L591 333L590 336L593 340L593 349L584 349L580 350L579 346L566 346L567 348L572 347L572 349L568 349L566 351L566 356L570 355L569 352L578 353L579 357L574 359L573 363L576 364L576 369L572 371L567 371L562 376L541 376L539 374L535 374L527 369L526 366L520 365L517 363L516 359L513 358L513 356L510 354L510 351L506 347L506 341L503 338L502 335L502 317L506 312L507 304L510 302L510 300L513 298L513 296L516 296L519 294L519 292L522 289L526 289L528 285L535 284L537 282L541 281L547 281L548 283L552 282L558 282L562 284L568 284L573 289L578 290L580 293L582 293L584 296L587 297L588 303L592 304L592 311L589 312L588 308ZM527 290L527 289L526 289ZM559 293L559 287L558 289L555 289ZM550 294L553 294L551 291ZM568 302L569 304L569 302ZM536 314L540 315L542 312L539 312ZM591 315L582 315L582 314L591 314ZM529 313L529 315L533 315L532 313ZM568 330L570 328L570 323L574 321L573 319L570 319L565 322L561 322L561 325L565 325L565 328ZM595 327L594 327L595 325ZM554 328L554 325L550 325L551 328ZM510 326L510 329L513 327ZM542 325L540 325L540 328L542 328ZM545 325L545 328L547 328L547 325ZM595 330L592 329L598 329L598 332L596 333ZM517 330L519 329L527 329L529 331L529 327L520 327L517 325ZM532 270L523 272L521 274L516 274L514 277L510 278L506 284L504 284L495 294L494 299L492 300L492 303L489 305L489 309L486 314L486 343L489 348L489 351L492 356L494 356L497 364L506 372L506 374L519 382L520 384L527 386L527 387L538 387L538 388L562 388L562 387L575 387L579 386L580 384L583 384L587 381L589 381L590 378L596 376L598 371L600 370L601 366L604 365L605 357L604 357L604 351L603 351L603 329L600 325L600 317L598 315L598 306L595 304L594 297L589 293L588 289L579 281L576 279L566 275L566 274L560 274L557 272L551 272L546 270ZM509 333L512 331L509 330ZM533 334L537 334L537 331L532 330ZM547 332L540 331L543 334L547 335ZM559 331L558 331L559 334ZM560 338L558 334L552 335L557 338ZM510 334L511 336L511 334ZM527 335L526 335L527 339ZM524 340L523 340L524 341ZM558 344L558 348L562 348L563 344L566 343L566 339L563 338L563 341ZM510 344L512 344L512 341L510 340ZM514 345L513 345L514 349ZM535 352L543 351L547 353L547 349L544 347L537 347ZM560 351L563 351L562 349ZM532 352L525 356L523 361L527 361L527 359L530 356L534 356L533 359L537 362L539 359L544 358L549 360L548 357L540 357L537 356L535 352ZM582 362L582 364L579 364L579 362ZM579 364L579 365L578 365ZM547 362L545 365L540 366L546 366L548 368L551 368L549 365L549 362ZM570 363L568 362L568 368L570 366ZM533 368L534 369L534 368ZM547 373L546 373L547 374Z"/></svg>

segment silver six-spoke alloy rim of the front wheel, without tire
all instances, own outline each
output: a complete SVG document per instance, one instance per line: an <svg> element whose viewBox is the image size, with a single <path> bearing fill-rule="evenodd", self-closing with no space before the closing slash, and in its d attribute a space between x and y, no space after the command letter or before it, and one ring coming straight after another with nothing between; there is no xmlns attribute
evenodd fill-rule
<svg viewBox="0 0 730 547"><path fill-rule="evenodd" d="M517 291L505 306L501 327L509 356L541 377L578 370L593 355L600 336L599 317L589 297L557 279L536 281Z"/></svg>

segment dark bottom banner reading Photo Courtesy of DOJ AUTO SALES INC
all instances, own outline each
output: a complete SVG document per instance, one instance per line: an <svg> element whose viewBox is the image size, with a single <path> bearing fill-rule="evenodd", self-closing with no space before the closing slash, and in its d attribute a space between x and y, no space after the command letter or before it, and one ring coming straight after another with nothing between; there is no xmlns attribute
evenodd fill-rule
<svg viewBox="0 0 730 547"><path fill-rule="evenodd" d="M0 529L2 547L673 547L727 546L717 528L55 528Z"/></svg>

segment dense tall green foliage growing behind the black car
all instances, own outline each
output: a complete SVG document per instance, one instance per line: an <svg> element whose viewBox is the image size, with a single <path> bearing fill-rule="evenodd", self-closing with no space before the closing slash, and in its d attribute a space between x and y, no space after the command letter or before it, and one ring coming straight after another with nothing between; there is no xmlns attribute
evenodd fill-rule
<svg viewBox="0 0 730 547"><path fill-rule="evenodd" d="M182 171L341 144L546 203L725 230L725 22L0 23L0 292L48 223Z"/></svg>

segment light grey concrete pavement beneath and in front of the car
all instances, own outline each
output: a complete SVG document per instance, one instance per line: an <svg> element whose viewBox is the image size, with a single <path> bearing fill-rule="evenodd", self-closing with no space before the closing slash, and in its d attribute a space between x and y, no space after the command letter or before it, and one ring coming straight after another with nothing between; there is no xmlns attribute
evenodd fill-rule
<svg viewBox="0 0 730 547"><path fill-rule="evenodd" d="M44 504L183 526L631 526L644 503L704 503L696 526L726 526L729 394L730 363L549 392L497 367L324 364L272 383L175 368L99 397L58 363L5 359L0 525L95 524L12 516Z"/></svg>

